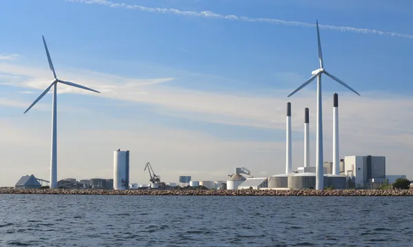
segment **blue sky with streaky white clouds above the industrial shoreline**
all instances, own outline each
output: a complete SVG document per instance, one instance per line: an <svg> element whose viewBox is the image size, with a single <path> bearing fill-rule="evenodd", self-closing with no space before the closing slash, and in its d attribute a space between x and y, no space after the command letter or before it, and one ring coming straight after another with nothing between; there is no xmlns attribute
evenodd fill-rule
<svg viewBox="0 0 413 247"><path fill-rule="evenodd" d="M224 180L239 166L255 176L282 173L288 100L293 164L301 166L304 107L315 122L315 83L286 96L319 66L316 19L326 70L361 94L323 78L325 160L338 92L341 156L386 155L389 173L413 177L406 158L412 7L380 0L1 1L0 154L12 166L0 167L0 185L25 173L48 178L50 94L23 115L52 79L42 34L59 78L102 92L59 86L59 179L111 178L118 146L135 155L131 180L140 183L148 161L170 182L185 174ZM311 133L314 163L315 125Z"/></svg>

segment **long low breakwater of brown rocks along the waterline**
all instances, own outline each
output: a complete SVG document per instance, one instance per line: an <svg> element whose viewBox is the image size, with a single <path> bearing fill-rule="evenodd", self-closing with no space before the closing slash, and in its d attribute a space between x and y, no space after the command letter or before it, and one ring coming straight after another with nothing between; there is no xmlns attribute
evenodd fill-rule
<svg viewBox="0 0 413 247"><path fill-rule="evenodd" d="M14 189L2 188L0 194L44 195L216 195L216 196L413 196L413 190L158 190L129 189L114 191L104 189Z"/></svg>

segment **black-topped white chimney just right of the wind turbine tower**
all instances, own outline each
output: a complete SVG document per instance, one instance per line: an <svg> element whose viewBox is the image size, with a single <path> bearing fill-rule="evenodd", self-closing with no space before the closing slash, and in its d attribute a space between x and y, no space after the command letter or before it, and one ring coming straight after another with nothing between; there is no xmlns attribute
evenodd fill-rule
<svg viewBox="0 0 413 247"><path fill-rule="evenodd" d="M332 103L332 174L340 175L339 158L339 95L333 94Z"/></svg>

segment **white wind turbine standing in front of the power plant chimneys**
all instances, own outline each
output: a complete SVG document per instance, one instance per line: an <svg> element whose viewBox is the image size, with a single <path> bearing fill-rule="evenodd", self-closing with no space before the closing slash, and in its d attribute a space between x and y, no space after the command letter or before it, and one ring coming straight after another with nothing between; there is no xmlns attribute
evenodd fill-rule
<svg viewBox="0 0 413 247"><path fill-rule="evenodd" d="M332 74L326 72L326 70L324 69L323 54L321 53L321 41L320 41L318 21L316 21L316 25L317 25L317 40L318 40L320 68L311 72L313 76L311 76L305 83L303 83L303 85L295 89L295 91L292 92L290 95L288 95L288 97L292 96L296 92L299 92L300 89L302 89L303 87L306 87L306 85L310 84L317 77L317 150L316 150L316 160L315 160L315 164L316 164L315 189L322 190L324 188L324 171L323 171L324 156L323 156L323 120L322 120L323 114L322 114L322 109L321 109L321 74L326 74L333 80L337 81L337 83L340 83L344 87L347 87L350 91L354 92L358 96L360 96L360 94L357 93L354 89L352 89L349 85L344 83L342 80L340 80L336 76L333 76Z"/></svg>

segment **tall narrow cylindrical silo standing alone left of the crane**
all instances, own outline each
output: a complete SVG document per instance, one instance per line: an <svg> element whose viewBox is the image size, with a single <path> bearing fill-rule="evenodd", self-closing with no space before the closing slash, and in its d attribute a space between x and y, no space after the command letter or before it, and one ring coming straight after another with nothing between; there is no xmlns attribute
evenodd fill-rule
<svg viewBox="0 0 413 247"><path fill-rule="evenodd" d="M129 187L129 150L114 151L114 189L125 190Z"/></svg>

